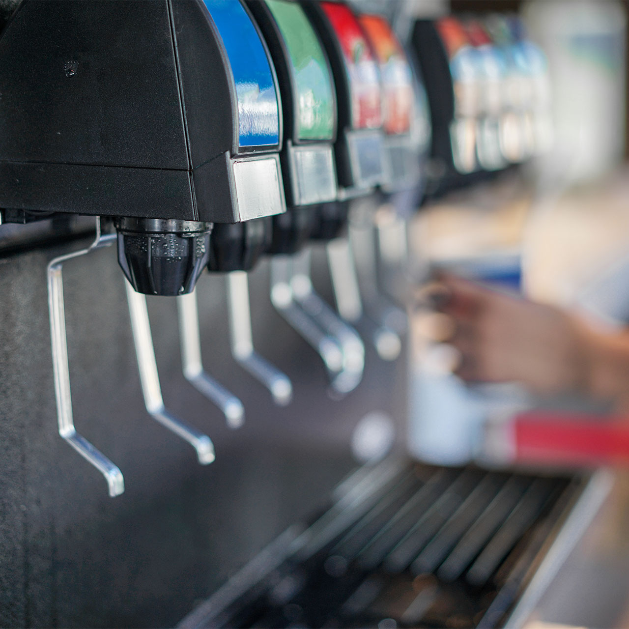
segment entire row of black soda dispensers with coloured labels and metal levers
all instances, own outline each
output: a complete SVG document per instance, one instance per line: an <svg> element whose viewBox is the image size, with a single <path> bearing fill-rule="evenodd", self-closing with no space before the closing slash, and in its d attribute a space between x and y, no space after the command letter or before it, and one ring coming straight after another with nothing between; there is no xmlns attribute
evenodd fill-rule
<svg viewBox="0 0 629 629"><path fill-rule="evenodd" d="M233 358L288 404L291 380L253 345L247 272L270 257L270 301L340 398L365 341L394 360L406 328L379 281L377 217L405 236L426 195L550 141L543 54L515 17L418 20L401 42L381 15L327 0L23 0L0 64L1 222L95 217L92 245L48 264L48 305L58 431L110 496L121 470L74 427L66 262L115 243L147 412L209 464L208 435L165 407L145 295L176 298L184 376L237 428L243 404L203 366L194 287L225 275ZM366 235L362 273L349 224ZM313 289L316 242L336 309ZM412 282L402 241L396 262Z"/></svg>

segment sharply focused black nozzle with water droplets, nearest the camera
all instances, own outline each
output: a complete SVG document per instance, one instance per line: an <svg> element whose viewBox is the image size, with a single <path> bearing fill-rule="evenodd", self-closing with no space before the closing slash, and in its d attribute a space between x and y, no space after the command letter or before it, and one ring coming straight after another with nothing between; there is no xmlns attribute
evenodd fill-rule
<svg viewBox="0 0 629 629"><path fill-rule="evenodd" d="M146 295L192 292L208 263L212 223L123 217L116 221L118 262Z"/></svg>

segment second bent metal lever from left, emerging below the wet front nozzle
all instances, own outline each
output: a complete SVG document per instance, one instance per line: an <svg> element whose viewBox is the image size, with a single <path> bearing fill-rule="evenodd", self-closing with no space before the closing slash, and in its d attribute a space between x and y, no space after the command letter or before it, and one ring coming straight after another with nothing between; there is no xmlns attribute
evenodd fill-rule
<svg viewBox="0 0 629 629"><path fill-rule="evenodd" d="M135 344L135 354L138 359L140 383L142 384L144 404L147 411L160 424L190 443L196 450L199 463L207 465L214 460L214 444L207 435L200 433L191 426L187 426L165 408L164 400L162 399L162 389L159 384L151 328L148 321L147 299L143 294L133 290L128 281L125 281L125 287L129 314L131 316L133 343Z"/></svg>

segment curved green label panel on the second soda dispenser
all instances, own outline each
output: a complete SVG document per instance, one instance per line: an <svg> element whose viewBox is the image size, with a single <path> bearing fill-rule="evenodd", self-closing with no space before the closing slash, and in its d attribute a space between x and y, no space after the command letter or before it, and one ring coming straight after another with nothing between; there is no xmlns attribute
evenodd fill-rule
<svg viewBox="0 0 629 629"><path fill-rule="evenodd" d="M285 0L266 0L291 56L297 86L297 134L300 140L332 140L335 106L326 58L303 9Z"/></svg>

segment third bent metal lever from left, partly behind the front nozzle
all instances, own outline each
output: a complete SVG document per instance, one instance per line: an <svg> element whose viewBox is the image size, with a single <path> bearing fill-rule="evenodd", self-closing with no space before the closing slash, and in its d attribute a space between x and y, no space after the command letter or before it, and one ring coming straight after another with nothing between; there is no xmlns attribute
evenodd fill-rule
<svg viewBox="0 0 629 629"><path fill-rule="evenodd" d="M245 421L242 402L203 369L196 291L177 297L177 312L181 360L186 380L223 411L230 428L240 428Z"/></svg>

